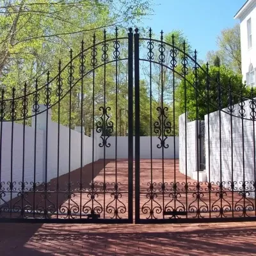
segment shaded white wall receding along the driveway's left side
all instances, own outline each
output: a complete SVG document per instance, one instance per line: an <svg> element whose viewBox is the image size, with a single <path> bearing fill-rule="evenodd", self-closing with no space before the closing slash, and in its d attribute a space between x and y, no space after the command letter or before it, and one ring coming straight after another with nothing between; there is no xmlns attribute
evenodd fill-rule
<svg viewBox="0 0 256 256"><path fill-rule="evenodd" d="M44 106L40 105L40 111L44 110ZM49 180L57 177L58 173L58 124L51 121L51 109L48 113L48 129L46 134L46 115L47 113L40 113L36 120L36 170L35 164L35 118L32 120L32 127L25 126L25 150L24 150L24 182L27 182L26 188L32 188L31 182L35 181L39 184L42 182L49 182ZM71 130L70 138L70 171L76 170L81 166L81 129L79 132ZM45 161L45 148L47 139L47 169ZM22 182L23 169L23 125L13 123L13 161L11 161L12 148L12 122L3 122L3 138L2 138L2 159L1 159L1 182L3 183L3 190L8 191L8 184L11 179L16 182L15 188L18 191ZM83 165L92 163L92 144L93 139L83 135ZM100 157L99 134L95 132L94 138L95 154L94 161ZM59 175L68 173L68 159L69 159L69 129L60 125L60 167ZM13 164L13 175L11 177L11 163ZM47 170L47 179L45 171ZM13 197L17 193L13 192ZM10 193L4 196L4 200L10 200ZM1 202L0 202L1 204Z"/></svg>

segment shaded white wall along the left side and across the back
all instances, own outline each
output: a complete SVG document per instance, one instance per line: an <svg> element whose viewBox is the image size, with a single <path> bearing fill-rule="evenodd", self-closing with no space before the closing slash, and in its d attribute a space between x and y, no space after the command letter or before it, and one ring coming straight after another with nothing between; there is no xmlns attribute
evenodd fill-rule
<svg viewBox="0 0 256 256"><path fill-rule="evenodd" d="M40 105L40 111L44 111L44 105ZM46 127L46 117L48 115L48 126ZM69 157L69 132L70 132L70 157ZM2 159L1 159L1 182L3 190L8 190L7 182L11 179L16 182L15 188L20 188L22 182L22 159L23 159L23 125L13 124L13 161L11 161L11 141L12 141L12 122L3 122L2 139ZM93 132L92 132L93 134ZM46 140L47 138L47 140ZM97 161L104 157L104 148L99 147L102 142L100 134L94 131L94 140L83 135L83 166L92 161ZM141 159L150 158L150 137L141 137ZM46 156L47 141L47 156ZM115 159L115 137L108 138L111 143L106 148L106 159ZM159 138L152 137L153 158L162 158L162 149L157 148ZM173 137L166 140L169 145L164 148L164 158L179 157L179 137L175 137L176 150L174 154ZM92 148L94 143L94 155ZM51 120L51 109L40 113L36 119L36 170L34 168L35 154L35 118L32 118L32 127L25 127L25 159L24 159L24 182L28 182L26 188L32 188L31 182L49 182L57 177L58 174L58 148L60 150L59 175L68 173L81 167L81 127L76 127L76 131L60 125L60 145L58 147L58 124ZM135 149L135 148L134 148ZM135 156L135 154L134 154ZM46 159L47 157L47 164ZM128 137L117 137L117 159L127 159L128 157ZM69 168L70 159L70 168ZM11 163L13 163L13 175L11 177ZM45 168L47 167L47 168ZM47 171L47 179L45 173ZM13 193L13 197L17 193ZM10 200L10 195L5 195L4 200ZM0 202L0 204L3 202Z"/></svg>

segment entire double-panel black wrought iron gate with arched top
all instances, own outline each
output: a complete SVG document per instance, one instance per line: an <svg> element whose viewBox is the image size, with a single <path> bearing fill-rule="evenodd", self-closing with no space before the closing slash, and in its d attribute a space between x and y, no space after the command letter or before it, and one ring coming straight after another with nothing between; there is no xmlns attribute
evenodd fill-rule
<svg viewBox="0 0 256 256"><path fill-rule="evenodd" d="M255 220L254 92L223 86L177 39L104 31L67 65L2 89L0 221Z"/></svg>

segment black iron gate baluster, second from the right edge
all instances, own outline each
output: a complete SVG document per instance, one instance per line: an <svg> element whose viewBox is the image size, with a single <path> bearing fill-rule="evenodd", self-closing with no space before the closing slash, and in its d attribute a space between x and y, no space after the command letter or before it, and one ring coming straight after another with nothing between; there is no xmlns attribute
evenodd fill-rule
<svg viewBox="0 0 256 256"><path fill-rule="evenodd" d="M244 109L244 97L243 97L243 84L240 87L240 100L239 100L239 115L241 117L242 123L242 148L243 148L243 182L242 188L243 193L239 193L239 195L243 196L243 216L246 217L246 207L245 207L245 198L246 198L246 182L245 182L245 163L244 163L244 116L245 116L245 109Z"/></svg>

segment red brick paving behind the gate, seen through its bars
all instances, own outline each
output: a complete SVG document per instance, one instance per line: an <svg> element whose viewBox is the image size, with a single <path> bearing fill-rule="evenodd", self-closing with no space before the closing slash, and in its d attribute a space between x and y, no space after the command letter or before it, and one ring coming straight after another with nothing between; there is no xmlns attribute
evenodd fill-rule
<svg viewBox="0 0 256 256"><path fill-rule="evenodd" d="M152 165L152 168L151 168ZM164 169L164 177L163 177ZM152 170L152 180L151 180ZM93 173L92 173L93 171ZM104 180L105 173L105 180ZM80 175L82 175L83 189L79 190ZM91 200L90 182L94 177L93 182L95 184L95 198ZM164 180L163 180L164 179ZM166 192L161 193L161 184L166 186ZM188 193L184 189L185 182L188 182ZM44 187L39 186L38 191L35 193L35 204L33 191L28 192L26 198L27 204L31 204L31 209L35 211L42 211L41 214L36 216L44 217L43 210L46 207L49 211L52 209L56 211L56 205L58 205L59 211L63 212L63 215L59 215L58 218L67 218L68 209L71 212L71 218L80 218L74 213L83 214L90 213L94 208L97 214L100 214L101 218L128 218L128 161L126 159L117 160L99 160L94 164L88 164L80 169L74 170L70 173L70 182L72 197L68 199L68 173L59 177L59 191L56 192L57 179L51 180L47 184L48 198L45 202L44 199ZM103 183L106 183L106 193L103 192ZM150 183L154 183L154 198L150 197L147 189ZM174 200L173 196L173 182L177 183L177 198ZM118 200L115 199L113 191L115 191L115 183L118 183ZM135 182L134 182L135 183ZM212 191L209 193L207 184L200 184L200 189L196 188L196 180L188 179L186 176L179 172L179 159L164 159L164 163L161 159L153 159L152 163L150 159L141 159L140 163L140 214L141 218L168 218L163 216L163 209L166 211L189 212L188 218L198 218L196 210L200 209L200 218L218 218L220 217L221 205L223 209L227 209L229 212L225 212L225 216L239 217L243 216L243 207L247 207L246 216L255 216L255 200L251 198L242 198L238 193L232 194L228 189L223 189L225 193L223 198L220 198L219 187L216 184L212 185ZM50 196L51 195L51 196ZM233 199L232 199L233 196ZM17 206L17 202L20 198L14 198L12 205ZM10 202L9 202L10 204ZM19 208L19 207L18 207ZM118 208L118 216L115 216L115 209ZM27 207L27 209L30 209ZM154 209L154 214L150 216L150 210ZM233 211L232 211L233 209ZM211 210L211 211L210 211ZM216 212L214 212L216 210ZM249 211L251 210L251 211ZM8 216L8 214L5 214ZM9 214L10 215L10 214ZM14 215L14 214L13 214ZM26 214L26 216L30 216ZM9 216L10 217L10 216ZM56 218L56 216L52 216ZM86 218L83 217L82 218ZM186 218L181 216L180 218Z"/></svg>

